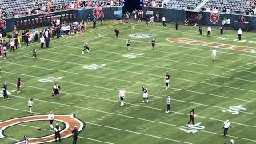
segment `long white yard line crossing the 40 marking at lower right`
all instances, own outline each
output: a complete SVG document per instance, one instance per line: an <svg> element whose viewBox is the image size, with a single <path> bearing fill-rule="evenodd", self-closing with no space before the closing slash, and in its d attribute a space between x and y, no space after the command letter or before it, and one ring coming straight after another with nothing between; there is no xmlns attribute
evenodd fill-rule
<svg viewBox="0 0 256 144"><path fill-rule="evenodd" d="M78 94L75 94L75 95L78 95ZM14 97L27 99L26 97L21 97L21 96L14 96ZM132 119L137 119L137 120L146 121L146 122L154 122L154 123L158 123L158 124L162 124L162 125L166 125L166 126L176 126L176 127L179 127L179 128L186 128L186 126L178 126L178 125L174 125L174 124L170 124L170 123L165 123L165 122L151 121L151 120L148 120L148 119L136 118L136 117L132 117L132 116L128 116L128 115L123 115L123 114L115 114L115 113L110 113L110 112L106 112L106 111L102 111L102 110L95 110L95 109L86 108L86 107L72 106L72 105L67 105L67 104L58 103L58 102L50 102L50 101L45 101L45 100L41 100L41 99L37 99L37 98L34 98L34 100L39 101L39 102L52 103L52 104L55 104L55 105L58 104L58 105L62 105L62 106L75 107L75 108L78 108L78 109L81 109L81 110L96 111L96 112L100 112L100 113L103 113L103 114L117 115L117 116L121 116L121 117L125 117L125 118L132 118ZM217 135L221 135L222 136L222 134L218 134L218 133L214 133L214 132L210 132L210 131L206 131L206 130L199 130L199 131L202 131L202 132L205 132L205 133L208 133L208 134L217 134ZM230 138L238 138L238 139L242 139L242 140L246 140L246 141L250 141L250 142L256 142L256 140L248 139L248 138L240 138L240 137L235 137L235 136L231 136L231 135L228 135L228 137L230 137Z"/></svg>

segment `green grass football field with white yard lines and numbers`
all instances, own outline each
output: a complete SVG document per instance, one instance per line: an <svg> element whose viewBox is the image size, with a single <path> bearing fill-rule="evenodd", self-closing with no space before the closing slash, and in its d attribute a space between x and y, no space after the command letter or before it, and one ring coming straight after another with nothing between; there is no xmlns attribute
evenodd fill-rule
<svg viewBox="0 0 256 144"><path fill-rule="evenodd" d="M119 38L115 28L121 32ZM7 81L11 94L10 100L0 101L1 122L52 110L55 115L75 114L84 122L79 144L223 144L230 139L235 144L256 143L255 34L244 32L243 41L238 42L234 30L220 35L214 28L207 38L206 27L202 37L197 26L174 28L173 24L107 21L84 34L53 39L49 50L31 44L8 52L6 60L0 61L1 85ZM130 51L126 50L129 38ZM156 50L151 48L152 38ZM85 39L90 53L82 54ZM218 47L215 62L214 47ZM32 58L32 48L38 50L37 59ZM171 74L168 90L166 72ZM22 79L19 94L14 92L17 78ZM54 83L61 86L59 97L51 96ZM142 103L142 86L149 90L149 102ZM121 88L126 90L122 107ZM166 114L168 95L172 112ZM36 106L33 114L27 106L30 98ZM188 126L193 108L195 125ZM231 128L225 139L226 119ZM58 123L62 129L66 126ZM54 132L46 120L22 122L5 129L0 143L49 134ZM72 143L72 137L62 143Z"/></svg>

